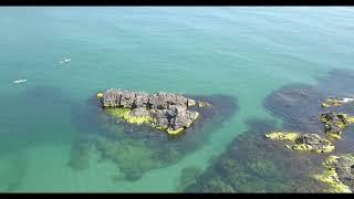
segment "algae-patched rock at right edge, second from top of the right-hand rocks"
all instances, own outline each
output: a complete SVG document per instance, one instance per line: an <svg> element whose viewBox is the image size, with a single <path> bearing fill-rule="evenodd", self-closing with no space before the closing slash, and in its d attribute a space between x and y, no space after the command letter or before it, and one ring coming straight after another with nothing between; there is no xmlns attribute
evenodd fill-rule
<svg viewBox="0 0 354 199"><path fill-rule="evenodd" d="M354 122L354 117L334 112L321 114L320 119L324 124L325 134L332 139L340 139L342 130Z"/></svg>

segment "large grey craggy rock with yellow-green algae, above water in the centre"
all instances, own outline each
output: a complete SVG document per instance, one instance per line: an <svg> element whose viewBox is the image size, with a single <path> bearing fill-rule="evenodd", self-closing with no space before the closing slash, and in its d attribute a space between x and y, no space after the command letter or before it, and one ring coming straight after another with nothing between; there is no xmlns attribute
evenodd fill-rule
<svg viewBox="0 0 354 199"><path fill-rule="evenodd" d="M111 88L98 93L97 97L110 115L133 124L149 124L173 135L188 128L199 116L198 112L188 109L196 105L195 100L173 93L147 94ZM211 104L198 102L198 107L201 106Z"/></svg>

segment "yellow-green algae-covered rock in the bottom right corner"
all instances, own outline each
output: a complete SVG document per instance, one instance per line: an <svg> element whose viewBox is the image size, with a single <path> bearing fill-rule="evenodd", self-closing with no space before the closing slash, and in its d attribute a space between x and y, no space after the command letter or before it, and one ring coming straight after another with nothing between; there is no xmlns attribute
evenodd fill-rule
<svg viewBox="0 0 354 199"><path fill-rule="evenodd" d="M344 154L330 156L323 164L326 170L313 177L326 184L329 192L353 192L354 190L354 156Z"/></svg>

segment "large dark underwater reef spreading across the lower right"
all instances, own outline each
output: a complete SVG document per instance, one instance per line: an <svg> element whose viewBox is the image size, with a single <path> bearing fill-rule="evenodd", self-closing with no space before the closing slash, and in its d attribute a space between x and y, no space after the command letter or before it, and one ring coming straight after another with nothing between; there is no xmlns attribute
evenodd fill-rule
<svg viewBox="0 0 354 199"><path fill-rule="evenodd" d="M323 113L354 115L353 104L323 109L332 96L354 96L354 72L333 70L314 85L291 84L271 92L264 107L283 121L249 121L249 130L185 188L186 192L350 192L354 188L353 127L343 129L331 155L294 151L267 139L272 130L325 136Z"/></svg>

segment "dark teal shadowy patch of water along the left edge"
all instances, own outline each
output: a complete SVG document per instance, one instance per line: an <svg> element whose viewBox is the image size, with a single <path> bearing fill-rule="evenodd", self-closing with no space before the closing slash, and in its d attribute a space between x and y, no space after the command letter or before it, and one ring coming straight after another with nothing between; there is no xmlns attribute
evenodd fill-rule
<svg viewBox="0 0 354 199"><path fill-rule="evenodd" d="M4 119L0 118L0 126L4 126L0 153L11 153L42 140L59 142L51 135L65 122L65 112L74 106L63 90L45 85L1 97L7 106L2 108ZM55 134L53 137L60 137Z"/></svg>

